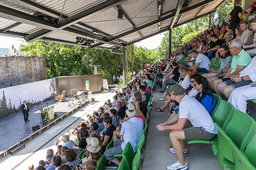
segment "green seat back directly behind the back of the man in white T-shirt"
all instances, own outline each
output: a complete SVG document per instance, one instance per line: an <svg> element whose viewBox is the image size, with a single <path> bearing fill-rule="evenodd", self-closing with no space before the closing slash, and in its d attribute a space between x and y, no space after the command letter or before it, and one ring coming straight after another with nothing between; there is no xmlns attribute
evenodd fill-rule
<svg viewBox="0 0 256 170"><path fill-rule="evenodd" d="M235 108L229 102L220 99L219 105L215 107L212 113L213 122L225 129L232 118Z"/></svg>

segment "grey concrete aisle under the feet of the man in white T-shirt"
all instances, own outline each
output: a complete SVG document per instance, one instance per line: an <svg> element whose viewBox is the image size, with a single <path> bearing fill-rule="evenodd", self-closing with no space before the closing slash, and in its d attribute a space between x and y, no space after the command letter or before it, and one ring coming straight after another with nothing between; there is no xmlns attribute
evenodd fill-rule
<svg viewBox="0 0 256 170"><path fill-rule="evenodd" d="M143 170L164 170L166 166L177 161L176 154L169 152L169 145L171 144L169 138L170 131L158 131L156 128L156 125L168 119L168 108L165 112L156 112L154 110L155 107L161 107L163 105L163 101L156 100L162 96L162 94L157 93L159 90L159 85L156 85L142 166ZM188 145L186 143L185 145L188 148L188 156L184 158L188 162L189 170L222 170L217 157L213 155L211 145Z"/></svg>

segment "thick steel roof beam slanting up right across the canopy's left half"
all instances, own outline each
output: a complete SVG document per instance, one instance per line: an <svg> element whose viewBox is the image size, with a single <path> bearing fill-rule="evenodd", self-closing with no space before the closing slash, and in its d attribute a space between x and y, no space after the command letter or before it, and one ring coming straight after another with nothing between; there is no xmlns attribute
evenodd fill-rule
<svg viewBox="0 0 256 170"><path fill-rule="evenodd" d="M105 11L105 10L108 10L108 9L114 7L114 6L117 6L117 5L119 5L119 4L121 4L121 3L125 2L125 1L127 1L127 0L108 0L108 1L104 1L104 2L102 2L100 4L97 4L97 5L93 6L93 7L91 7L91 8L88 8L88 9L86 9L84 11L81 11L78 14L74 14L71 17L66 18L65 21L61 21L59 23L59 25L58 25L58 28L56 28L54 30L49 30L49 31L47 31L47 32L45 32L44 34L41 34L41 35L38 35L38 34L37 35L33 35L33 34L31 34L30 35L30 39L27 39L27 38L26 39L28 40L28 42L32 42L32 41L38 40L38 39L40 39L42 37L45 37L45 36L48 36L48 35L50 35L50 34L52 34L54 32L60 31L60 30L62 30L64 28L67 28L67 27L69 27L69 26L71 26L73 24L82 22L82 21L84 21L87 18L90 18L90 17L92 17L92 16L94 16L96 14L99 14L99 13ZM42 30L42 32L44 32L43 30Z"/></svg>

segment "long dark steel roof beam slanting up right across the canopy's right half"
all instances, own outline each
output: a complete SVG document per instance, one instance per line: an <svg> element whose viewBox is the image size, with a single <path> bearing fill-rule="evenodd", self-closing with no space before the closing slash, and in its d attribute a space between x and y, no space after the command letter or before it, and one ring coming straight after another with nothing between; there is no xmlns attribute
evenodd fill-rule
<svg viewBox="0 0 256 170"><path fill-rule="evenodd" d="M214 1L214 0L205 0L205 1L203 1L203 2L200 2L200 3L196 4L196 5L193 5L193 6L191 6L191 7L185 8L185 9L181 10L178 15L184 14L184 13L186 13L186 12L188 12L188 11L191 11L191 10L197 8L197 7L202 6L202 5L208 4L208 3L212 2L212 1ZM147 24L145 24L145 25L142 25L142 26L140 26L140 27L138 27L138 28L136 28L136 29L133 29L133 30L127 31L127 32L125 32L125 33L119 34L119 35L117 35L117 36L115 36L115 37L112 37L112 38L110 38L110 39L108 40L108 42L113 41L113 40L116 40L116 39L119 39L119 38L124 37L124 36L126 36L126 35L128 35L128 34L131 34L131 33L134 33L134 32L136 32L136 31L142 30L142 29L144 29L144 28L150 27L150 26L152 26L152 25L155 25L155 24L157 24L157 23L159 23L159 22L168 20L168 19L173 18L173 17L175 17L174 14L167 15L167 16L165 16L165 17L159 19L159 20L152 21L152 22L147 23Z"/></svg>

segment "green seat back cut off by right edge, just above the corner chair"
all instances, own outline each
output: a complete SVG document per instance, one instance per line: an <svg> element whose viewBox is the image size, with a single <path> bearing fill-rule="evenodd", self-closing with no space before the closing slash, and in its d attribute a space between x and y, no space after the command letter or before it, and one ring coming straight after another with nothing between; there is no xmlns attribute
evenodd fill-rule
<svg viewBox="0 0 256 170"><path fill-rule="evenodd" d="M244 151L244 154L247 156L247 158L253 164L254 167L256 167L256 156L255 156L256 147L255 146L256 146L256 135L254 135L254 137L252 138L252 140L247 145Z"/></svg>

